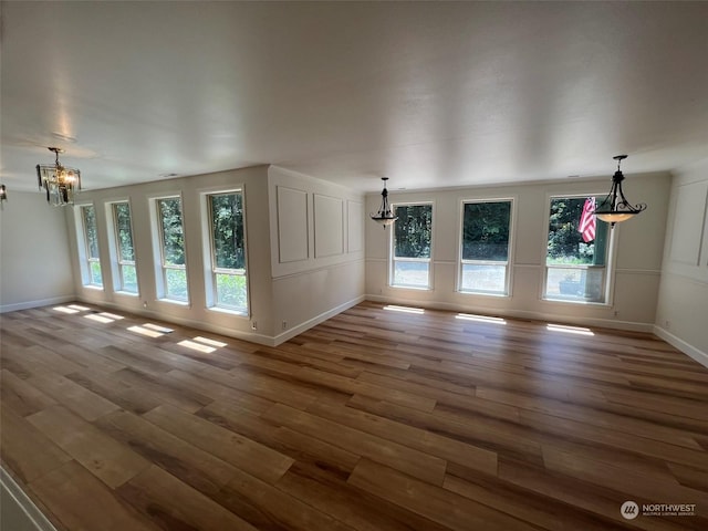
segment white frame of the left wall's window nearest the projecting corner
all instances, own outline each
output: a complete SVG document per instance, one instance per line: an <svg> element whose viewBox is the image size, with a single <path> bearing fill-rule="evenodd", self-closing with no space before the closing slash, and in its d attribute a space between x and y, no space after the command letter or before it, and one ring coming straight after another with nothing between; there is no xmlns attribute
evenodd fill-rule
<svg viewBox="0 0 708 531"><path fill-rule="evenodd" d="M216 242L214 239L214 216L212 216L212 202L211 198L215 196L241 196L241 227L243 229L243 268L218 268L216 257ZM201 207L202 207L202 228L204 228L204 241L205 241L205 284L206 284L206 303L209 310L227 312L235 315L250 316L250 290L249 290L249 267L248 267L248 239L247 239L247 226L246 226L246 192L243 186L229 188L229 189L212 189L202 191L201 194ZM219 302L218 290L218 275L228 274L231 277L242 277L246 284L246 306L236 306L231 304L223 304Z"/></svg>

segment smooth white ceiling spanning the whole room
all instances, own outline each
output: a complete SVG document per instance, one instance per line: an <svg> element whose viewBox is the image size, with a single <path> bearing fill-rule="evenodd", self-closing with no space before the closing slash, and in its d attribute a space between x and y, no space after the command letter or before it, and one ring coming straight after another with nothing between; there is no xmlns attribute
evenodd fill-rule
<svg viewBox="0 0 708 531"><path fill-rule="evenodd" d="M708 2L3 1L0 180L277 164L353 188L708 156ZM67 138L69 137L69 138Z"/></svg>

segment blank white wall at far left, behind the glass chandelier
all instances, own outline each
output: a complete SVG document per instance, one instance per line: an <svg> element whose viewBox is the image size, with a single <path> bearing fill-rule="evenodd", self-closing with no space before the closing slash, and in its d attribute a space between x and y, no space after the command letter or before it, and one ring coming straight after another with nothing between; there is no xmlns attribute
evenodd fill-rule
<svg viewBox="0 0 708 531"><path fill-rule="evenodd" d="M13 192L0 211L0 312L74 299L65 209Z"/></svg>

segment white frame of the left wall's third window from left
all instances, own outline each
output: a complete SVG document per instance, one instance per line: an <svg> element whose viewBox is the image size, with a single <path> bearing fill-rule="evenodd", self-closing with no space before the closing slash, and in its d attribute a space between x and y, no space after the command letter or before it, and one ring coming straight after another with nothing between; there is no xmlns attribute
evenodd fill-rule
<svg viewBox="0 0 708 531"><path fill-rule="evenodd" d="M165 233L164 233L164 223L163 223L163 214L160 208L160 201L166 199L178 199L179 200L179 210L180 210L180 223L181 223L181 233L183 233L183 253L185 256L184 264L171 264L165 263ZM154 240L156 239L157 246L155 246L155 288L157 290L157 300L169 302L173 304L190 304L189 296L189 271L187 268L187 233L185 230L185 209L184 209L184 198L181 194L164 194L159 196L155 196L150 198L150 210L154 218ZM187 289L187 294L185 299L179 299L171 295L168 291L168 281L167 274L168 271L184 271L185 272L185 283Z"/></svg>

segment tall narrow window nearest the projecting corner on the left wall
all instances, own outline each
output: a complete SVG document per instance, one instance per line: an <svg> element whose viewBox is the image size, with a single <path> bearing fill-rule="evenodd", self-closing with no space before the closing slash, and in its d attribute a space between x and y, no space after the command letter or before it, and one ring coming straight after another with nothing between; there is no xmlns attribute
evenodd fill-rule
<svg viewBox="0 0 708 531"><path fill-rule="evenodd" d="M243 195L240 191L207 196L211 240L211 305L248 313Z"/></svg>

